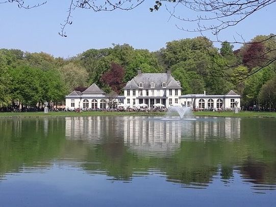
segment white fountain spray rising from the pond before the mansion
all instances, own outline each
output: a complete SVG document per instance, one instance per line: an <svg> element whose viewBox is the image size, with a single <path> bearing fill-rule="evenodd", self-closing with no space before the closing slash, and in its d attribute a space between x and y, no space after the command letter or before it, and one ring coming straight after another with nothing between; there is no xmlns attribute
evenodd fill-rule
<svg viewBox="0 0 276 207"><path fill-rule="evenodd" d="M196 120L193 119L192 109L190 107L186 106L170 106L168 108L166 117L180 117L179 120ZM165 118L165 120L168 120L168 118ZM177 119L173 119L177 120Z"/></svg>

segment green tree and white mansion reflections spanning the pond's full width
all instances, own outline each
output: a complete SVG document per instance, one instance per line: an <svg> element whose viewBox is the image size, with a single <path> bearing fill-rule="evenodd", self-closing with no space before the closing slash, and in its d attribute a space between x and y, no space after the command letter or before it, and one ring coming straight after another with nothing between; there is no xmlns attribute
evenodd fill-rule
<svg viewBox="0 0 276 207"><path fill-rule="evenodd" d="M257 184L276 183L275 121L210 120L187 122L181 128L179 123L158 125L136 117L2 119L0 176L18 172L22 166L49 166L50 160L69 154L76 162L80 161L77 166L86 173L105 173L113 179L130 180L133 176L148 175L154 169L166 174L168 181L206 187L214 176L227 181L233 178L233 169L238 169L245 179L251 178ZM135 129L130 133L131 125ZM165 131L174 134L157 133L156 129L150 129L152 126L159 126L161 131L166 127ZM143 128L148 132L139 132ZM157 141L152 140L152 134L158 137ZM173 150L167 153L169 137L177 148L170 148ZM131 142L136 138L137 142ZM160 141L165 147L159 148L161 152L165 149L162 156L155 156L158 152L141 156L140 149L135 148L148 142L143 150L152 150L152 144Z"/></svg>

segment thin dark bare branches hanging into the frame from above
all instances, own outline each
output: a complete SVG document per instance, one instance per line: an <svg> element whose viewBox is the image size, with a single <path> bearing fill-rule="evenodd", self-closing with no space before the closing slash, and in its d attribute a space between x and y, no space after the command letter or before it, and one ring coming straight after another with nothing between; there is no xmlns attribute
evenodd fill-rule
<svg viewBox="0 0 276 207"><path fill-rule="evenodd" d="M63 37L67 37L65 28L68 25L72 24L72 13L77 9L85 9L92 10L93 12L99 11L114 11L114 10L132 10L144 3L145 0L110 0L110 1L96 1L96 0L71 0L68 4L68 14L64 20L64 23L61 24L61 31L59 34ZM23 0L12 0L5 1L4 3L15 3L19 8L30 9L34 7L39 7L46 2L37 3L35 5L27 5ZM196 22L197 27L192 30L187 30L187 27L180 27L179 29L189 32L198 32L202 36L204 33L211 32L215 35L216 42L223 42L219 39L219 34L222 30L229 29L231 27L235 27L240 24L244 19L249 18L256 12L265 9L268 6L271 6L275 3L274 0L261 0L261 1L248 1L241 0L236 2L229 2L227 0L191 0L191 1L182 1L182 0L160 0L155 1L152 8L149 8L149 11L158 11L161 7L165 6L165 9L168 11L170 18L175 18L183 22ZM193 14L191 16L182 16L182 14L187 13L185 10L191 10ZM230 43L238 43L238 44L256 44L258 42L247 42L242 36L241 41L234 39L233 42ZM275 34L271 34L265 40L260 42L265 42L270 40L271 38L275 38ZM259 42L259 43L260 43ZM276 48L272 48L267 53L275 52ZM255 59L255 58L254 58ZM262 64L261 67L256 68L253 73L249 73L248 76L253 75L262 69L263 66L267 66L276 61L276 57L272 56L272 58L266 59L265 63ZM248 59L246 59L248 62ZM120 62L118 62L121 64ZM239 63L242 65L243 63ZM124 64L121 64L125 66ZM227 66L227 67L226 67ZM221 70L225 70L225 68L236 67L237 64L234 65L222 65ZM248 65L247 65L248 66Z"/></svg>

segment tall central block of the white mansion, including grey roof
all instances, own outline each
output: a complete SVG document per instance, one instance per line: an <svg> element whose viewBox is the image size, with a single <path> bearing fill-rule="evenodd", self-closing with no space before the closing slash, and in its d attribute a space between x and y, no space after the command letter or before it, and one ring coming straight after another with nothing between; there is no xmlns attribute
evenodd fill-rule
<svg viewBox="0 0 276 207"><path fill-rule="evenodd" d="M154 104L163 104L166 108L170 105L180 105L181 85L175 81L170 71L158 74L138 75L127 83L124 89L124 105L130 107L136 104L146 104L148 108Z"/></svg>

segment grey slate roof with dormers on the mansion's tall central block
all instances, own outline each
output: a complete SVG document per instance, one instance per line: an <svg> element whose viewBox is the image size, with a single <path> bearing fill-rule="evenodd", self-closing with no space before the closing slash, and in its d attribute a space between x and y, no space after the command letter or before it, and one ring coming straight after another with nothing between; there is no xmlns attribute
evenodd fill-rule
<svg viewBox="0 0 276 207"><path fill-rule="evenodd" d="M166 88L181 88L180 82L175 81L170 73L141 73L129 81L124 88L139 88L139 83L143 83L143 88L150 88L150 83L155 83L154 88L163 88L163 82L166 83Z"/></svg>

